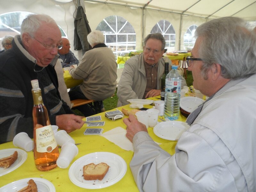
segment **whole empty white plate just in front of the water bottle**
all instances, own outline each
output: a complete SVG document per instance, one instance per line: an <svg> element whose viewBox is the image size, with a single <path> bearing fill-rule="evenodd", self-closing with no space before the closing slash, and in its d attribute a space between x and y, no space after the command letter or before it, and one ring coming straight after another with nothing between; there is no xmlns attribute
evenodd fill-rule
<svg viewBox="0 0 256 192"><path fill-rule="evenodd" d="M178 140L188 128L189 125L182 121L165 121L157 124L153 132L156 136L166 140Z"/></svg>

